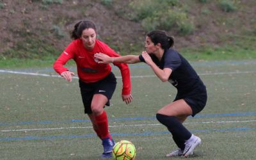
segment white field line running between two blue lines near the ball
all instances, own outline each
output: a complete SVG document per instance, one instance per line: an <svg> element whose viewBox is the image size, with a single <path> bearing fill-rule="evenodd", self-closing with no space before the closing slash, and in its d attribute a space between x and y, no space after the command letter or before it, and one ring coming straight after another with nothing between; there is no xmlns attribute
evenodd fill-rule
<svg viewBox="0 0 256 160"><path fill-rule="evenodd" d="M223 124L223 123L244 123L244 122L256 122L256 120L234 120L234 121L209 121L209 122L187 122L184 124ZM129 125L109 125L109 127L144 127L144 126L157 126L162 124L129 124ZM42 129L10 129L2 130L1 132L28 132L28 131L50 131L61 129L91 129L92 127L59 127L59 128L42 128Z"/></svg>

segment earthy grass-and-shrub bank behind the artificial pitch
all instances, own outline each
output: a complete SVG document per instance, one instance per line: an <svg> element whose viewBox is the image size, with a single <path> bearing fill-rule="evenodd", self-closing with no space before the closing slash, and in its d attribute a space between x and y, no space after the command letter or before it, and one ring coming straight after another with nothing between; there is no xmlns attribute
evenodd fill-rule
<svg viewBox="0 0 256 160"><path fill-rule="evenodd" d="M188 60L256 58L255 0L0 0L0 67L49 66L79 20L116 52L140 54L145 34L175 37Z"/></svg>

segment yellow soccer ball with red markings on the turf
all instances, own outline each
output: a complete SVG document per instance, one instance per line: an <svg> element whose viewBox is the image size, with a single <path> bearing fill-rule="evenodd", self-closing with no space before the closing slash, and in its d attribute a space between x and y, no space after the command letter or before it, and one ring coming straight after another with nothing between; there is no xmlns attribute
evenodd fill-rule
<svg viewBox="0 0 256 160"><path fill-rule="evenodd" d="M113 157L116 160L134 160L136 148L131 141L118 141L113 147Z"/></svg>

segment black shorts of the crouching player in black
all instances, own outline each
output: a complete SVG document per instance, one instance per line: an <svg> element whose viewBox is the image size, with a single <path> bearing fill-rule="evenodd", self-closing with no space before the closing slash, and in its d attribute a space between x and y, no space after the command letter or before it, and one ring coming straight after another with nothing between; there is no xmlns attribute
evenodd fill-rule
<svg viewBox="0 0 256 160"><path fill-rule="evenodd" d="M205 86L200 86L195 90L192 90L188 93L177 93L175 100L184 99L185 102L191 107L192 109L192 116L195 116L197 113L202 111L205 107L207 101L207 91Z"/></svg>

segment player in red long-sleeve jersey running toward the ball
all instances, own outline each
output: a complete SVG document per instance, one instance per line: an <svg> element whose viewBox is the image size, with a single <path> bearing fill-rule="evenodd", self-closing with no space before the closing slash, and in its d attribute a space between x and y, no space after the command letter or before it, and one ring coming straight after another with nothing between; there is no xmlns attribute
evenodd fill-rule
<svg viewBox="0 0 256 160"><path fill-rule="evenodd" d="M92 21L77 22L72 31L73 41L54 62L53 68L67 81L72 81L74 72L65 68L68 60L76 61L79 87L84 104L84 113L92 121L93 129L102 140L104 152L102 157L112 157L112 148L115 141L108 131L108 117L104 106L109 106L116 88L116 77L108 64L97 63L94 58L97 52L104 52L111 57L120 56L108 45L97 39L97 29ZM122 99L126 104L132 101L130 70L125 63L114 63L122 74Z"/></svg>

